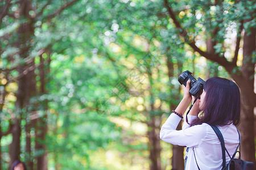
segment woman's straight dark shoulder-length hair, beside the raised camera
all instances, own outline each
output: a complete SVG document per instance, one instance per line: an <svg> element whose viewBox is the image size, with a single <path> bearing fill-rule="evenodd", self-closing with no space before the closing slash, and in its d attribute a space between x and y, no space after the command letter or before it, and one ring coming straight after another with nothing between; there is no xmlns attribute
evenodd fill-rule
<svg viewBox="0 0 256 170"><path fill-rule="evenodd" d="M209 78L204 83L206 92L202 116L191 123L200 125L238 125L240 123L240 90L236 83L220 77Z"/></svg>

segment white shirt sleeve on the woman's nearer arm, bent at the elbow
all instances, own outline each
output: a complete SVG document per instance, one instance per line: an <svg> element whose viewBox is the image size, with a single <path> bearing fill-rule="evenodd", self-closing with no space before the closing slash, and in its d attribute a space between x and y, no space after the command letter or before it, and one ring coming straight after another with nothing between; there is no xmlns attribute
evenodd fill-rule
<svg viewBox="0 0 256 170"><path fill-rule="evenodd" d="M183 130L176 130L181 118L171 114L160 130L160 139L173 145L196 147L207 135L207 125L196 125Z"/></svg>

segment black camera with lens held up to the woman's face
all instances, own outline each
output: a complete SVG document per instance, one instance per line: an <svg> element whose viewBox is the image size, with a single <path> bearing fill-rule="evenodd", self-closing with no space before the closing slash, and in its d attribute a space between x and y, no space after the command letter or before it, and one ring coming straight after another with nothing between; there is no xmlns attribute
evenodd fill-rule
<svg viewBox="0 0 256 170"><path fill-rule="evenodd" d="M203 92L204 80L201 79L200 77L197 78L196 80L193 77L192 73L188 70L181 73L178 78L180 84L183 84L185 87L187 86L188 79L191 80L191 82L189 83L189 87L190 87L189 93L195 97L197 97L198 95L201 95Z"/></svg>

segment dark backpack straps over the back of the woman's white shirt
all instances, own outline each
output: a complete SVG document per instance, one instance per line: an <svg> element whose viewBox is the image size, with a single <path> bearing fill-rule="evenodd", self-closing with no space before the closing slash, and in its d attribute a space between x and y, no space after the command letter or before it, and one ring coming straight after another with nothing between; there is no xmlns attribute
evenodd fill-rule
<svg viewBox="0 0 256 170"><path fill-rule="evenodd" d="M241 141L241 139L240 139L240 133L239 133L239 131L237 130L238 135L239 135L239 144L238 144L237 149L236 149L236 151L234 152L234 154L233 154L233 156L232 156L232 158L231 158L231 156L230 156L228 150L227 150L226 147L225 147L224 138L223 138L223 136L222 136L222 134L221 134L220 129L218 129L217 126L215 126L215 125L210 125L210 127L212 127L212 129L214 130L214 132L216 133L218 139L219 139L220 142L221 142L222 169L224 169L224 168L226 167L226 155L225 155L225 151L228 153L230 159L233 159L234 156L236 156L236 153L239 152L239 151L237 151L237 149L238 149L238 147L240 147L240 141ZM240 158L240 156L239 156L239 158Z"/></svg>

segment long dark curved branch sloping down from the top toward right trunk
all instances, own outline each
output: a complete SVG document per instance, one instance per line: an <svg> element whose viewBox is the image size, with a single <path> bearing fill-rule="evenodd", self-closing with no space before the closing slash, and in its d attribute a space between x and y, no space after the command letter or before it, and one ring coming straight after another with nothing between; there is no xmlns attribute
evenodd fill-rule
<svg viewBox="0 0 256 170"><path fill-rule="evenodd" d="M184 37L185 42L187 42L187 44L191 46L193 50L201 54L201 56L204 56L205 58L208 58L224 66L228 72L231 72L233 70L234 66L231 62L227 61L225 57L220 57L218 56L218 54L210 54L204 52L196 46L195 40L189 40L188 32L185 31L183 27L181 27L180 22L175 18L176 15L172 8L168 5L168 0L164 0L164 5L167 7L168 13L170 14L171 19L174 21L175 27L178 29L180 36Z"/></svg>

